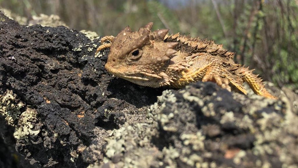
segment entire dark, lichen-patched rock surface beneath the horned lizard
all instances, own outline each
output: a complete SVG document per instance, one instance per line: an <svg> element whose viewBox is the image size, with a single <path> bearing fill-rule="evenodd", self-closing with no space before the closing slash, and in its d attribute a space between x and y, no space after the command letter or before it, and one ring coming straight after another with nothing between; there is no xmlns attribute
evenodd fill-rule
<svg viewBox="0 0 298 168"><path fill-rule="evenodd" d="M0 167L297 167L291 90L162 92L108 74L99 44L0 13Z"/></svg>

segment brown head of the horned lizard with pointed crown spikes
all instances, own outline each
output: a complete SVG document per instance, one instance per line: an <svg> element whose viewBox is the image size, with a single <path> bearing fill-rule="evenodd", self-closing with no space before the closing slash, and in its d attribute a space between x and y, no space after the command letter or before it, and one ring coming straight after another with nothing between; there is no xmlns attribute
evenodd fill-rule
<svg viewBox="0 0 298 168"><path fill-rule="evenodd" d="M152 25L150 22L136 32L127 26L115 37L105 64L109 73L144 86L168 83L164 71L178 42L164 42L168 29L151 32Z"/></svg>

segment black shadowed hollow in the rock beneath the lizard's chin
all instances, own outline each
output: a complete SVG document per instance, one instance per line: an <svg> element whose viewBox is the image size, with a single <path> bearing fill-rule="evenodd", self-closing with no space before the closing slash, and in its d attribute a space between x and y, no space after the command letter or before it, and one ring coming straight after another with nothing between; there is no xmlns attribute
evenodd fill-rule
<svg viewBox="0 0 298 168"><path fill-rule="evenodd" d="M107 90L112 93L108 98L125 100L136 108L141 108L155 103L157 96L162 95L165 88L150 88L121 78L114 78L110 81Z"/></svg>

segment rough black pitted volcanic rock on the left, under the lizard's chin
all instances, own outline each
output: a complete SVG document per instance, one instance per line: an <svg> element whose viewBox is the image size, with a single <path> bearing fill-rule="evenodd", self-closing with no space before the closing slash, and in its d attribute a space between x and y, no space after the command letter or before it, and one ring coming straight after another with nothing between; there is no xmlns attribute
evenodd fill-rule
<svg viewBox="0 0 298 168"><path fill-rule="evenodd" d="M95 126L119 128L127 120L119 118L123 109L144 114L136 107L149 106L161 94L112 80L104 69L107 56L94 57L98 39L63 26L21 26L2 13L0 21L0 94L24 103L20 112L4 114L16 116L10 126L21 128L10 145L16 143L35 167L86 167L79 154L96 137Z"/></svg>

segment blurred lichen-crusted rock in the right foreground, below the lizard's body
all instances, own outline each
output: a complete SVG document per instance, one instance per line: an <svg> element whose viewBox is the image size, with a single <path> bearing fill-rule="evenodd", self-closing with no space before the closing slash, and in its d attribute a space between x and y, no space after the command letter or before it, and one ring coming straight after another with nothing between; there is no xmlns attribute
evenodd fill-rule
<svg viewBox="0 0 298 168"><path fill-rule="evenodd" d="M295 101L248 99L214 83L165 90L145 123L114 130L100 167L297 167Z"/></svg>

